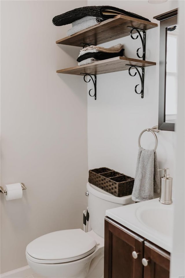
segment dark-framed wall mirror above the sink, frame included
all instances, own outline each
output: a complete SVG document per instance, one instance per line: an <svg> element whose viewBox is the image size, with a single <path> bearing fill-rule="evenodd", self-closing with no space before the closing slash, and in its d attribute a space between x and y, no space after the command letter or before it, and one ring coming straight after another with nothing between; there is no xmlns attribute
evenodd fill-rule
<svg viewBox="0 0 185 278"><path fill-rule="evenodd" d="M174 131L177 121L177 9L160 14L158 129Z"/></svg>

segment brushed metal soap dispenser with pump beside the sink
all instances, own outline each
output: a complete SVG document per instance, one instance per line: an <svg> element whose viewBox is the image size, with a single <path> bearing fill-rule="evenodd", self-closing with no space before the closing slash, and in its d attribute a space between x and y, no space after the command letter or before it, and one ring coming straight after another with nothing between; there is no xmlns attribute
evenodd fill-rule
<svg viewBox="0 0 185 278"><path fill-rule="evenodd" d="M159 202L168 205L172 203L171 195L173 178L169 175L169 168L159 169L158 171L160 170L164 170L164 176L160 178Z"/></svg>

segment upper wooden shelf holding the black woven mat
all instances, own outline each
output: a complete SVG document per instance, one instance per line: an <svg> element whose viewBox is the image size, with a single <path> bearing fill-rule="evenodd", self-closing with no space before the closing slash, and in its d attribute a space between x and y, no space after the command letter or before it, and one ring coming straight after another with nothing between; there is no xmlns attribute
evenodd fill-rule
<svg viewBox="0 0 185 278"><path fill-rule="evenodd" d="M101 43L106 43L107 41L129 36L130 28L127 26L148 30L157 27L158 24L120 14L72 36L60 39L56 41L56 43L81 47L81 43L99 45ZM133 34L134 33L136 33L136 31L133 31Z"/></svg>

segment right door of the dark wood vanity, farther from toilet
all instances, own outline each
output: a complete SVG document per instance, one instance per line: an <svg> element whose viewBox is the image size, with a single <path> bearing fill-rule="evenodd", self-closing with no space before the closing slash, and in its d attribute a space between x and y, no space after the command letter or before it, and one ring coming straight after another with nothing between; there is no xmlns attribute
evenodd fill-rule
<svg viewBox="0 0 185 278"><path fill-rule="evenodd" d="M170 253L145 241L144 278L169 278Z"/></svg>

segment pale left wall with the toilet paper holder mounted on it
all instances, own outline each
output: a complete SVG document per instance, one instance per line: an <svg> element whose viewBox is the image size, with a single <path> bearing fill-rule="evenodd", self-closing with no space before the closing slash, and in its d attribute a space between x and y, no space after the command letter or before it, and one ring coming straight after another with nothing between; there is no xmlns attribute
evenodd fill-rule
<svg viewBox="0 0 185 278"><path fill-rule="evenodd" d="M86 208L87 85L56 74L77 65L78 47L56 45L69 26L52 18L86 1L1 1L1 186L24 182L20 200L1 194L1 273L27 265L26 245L82 227Z"/></svg>

